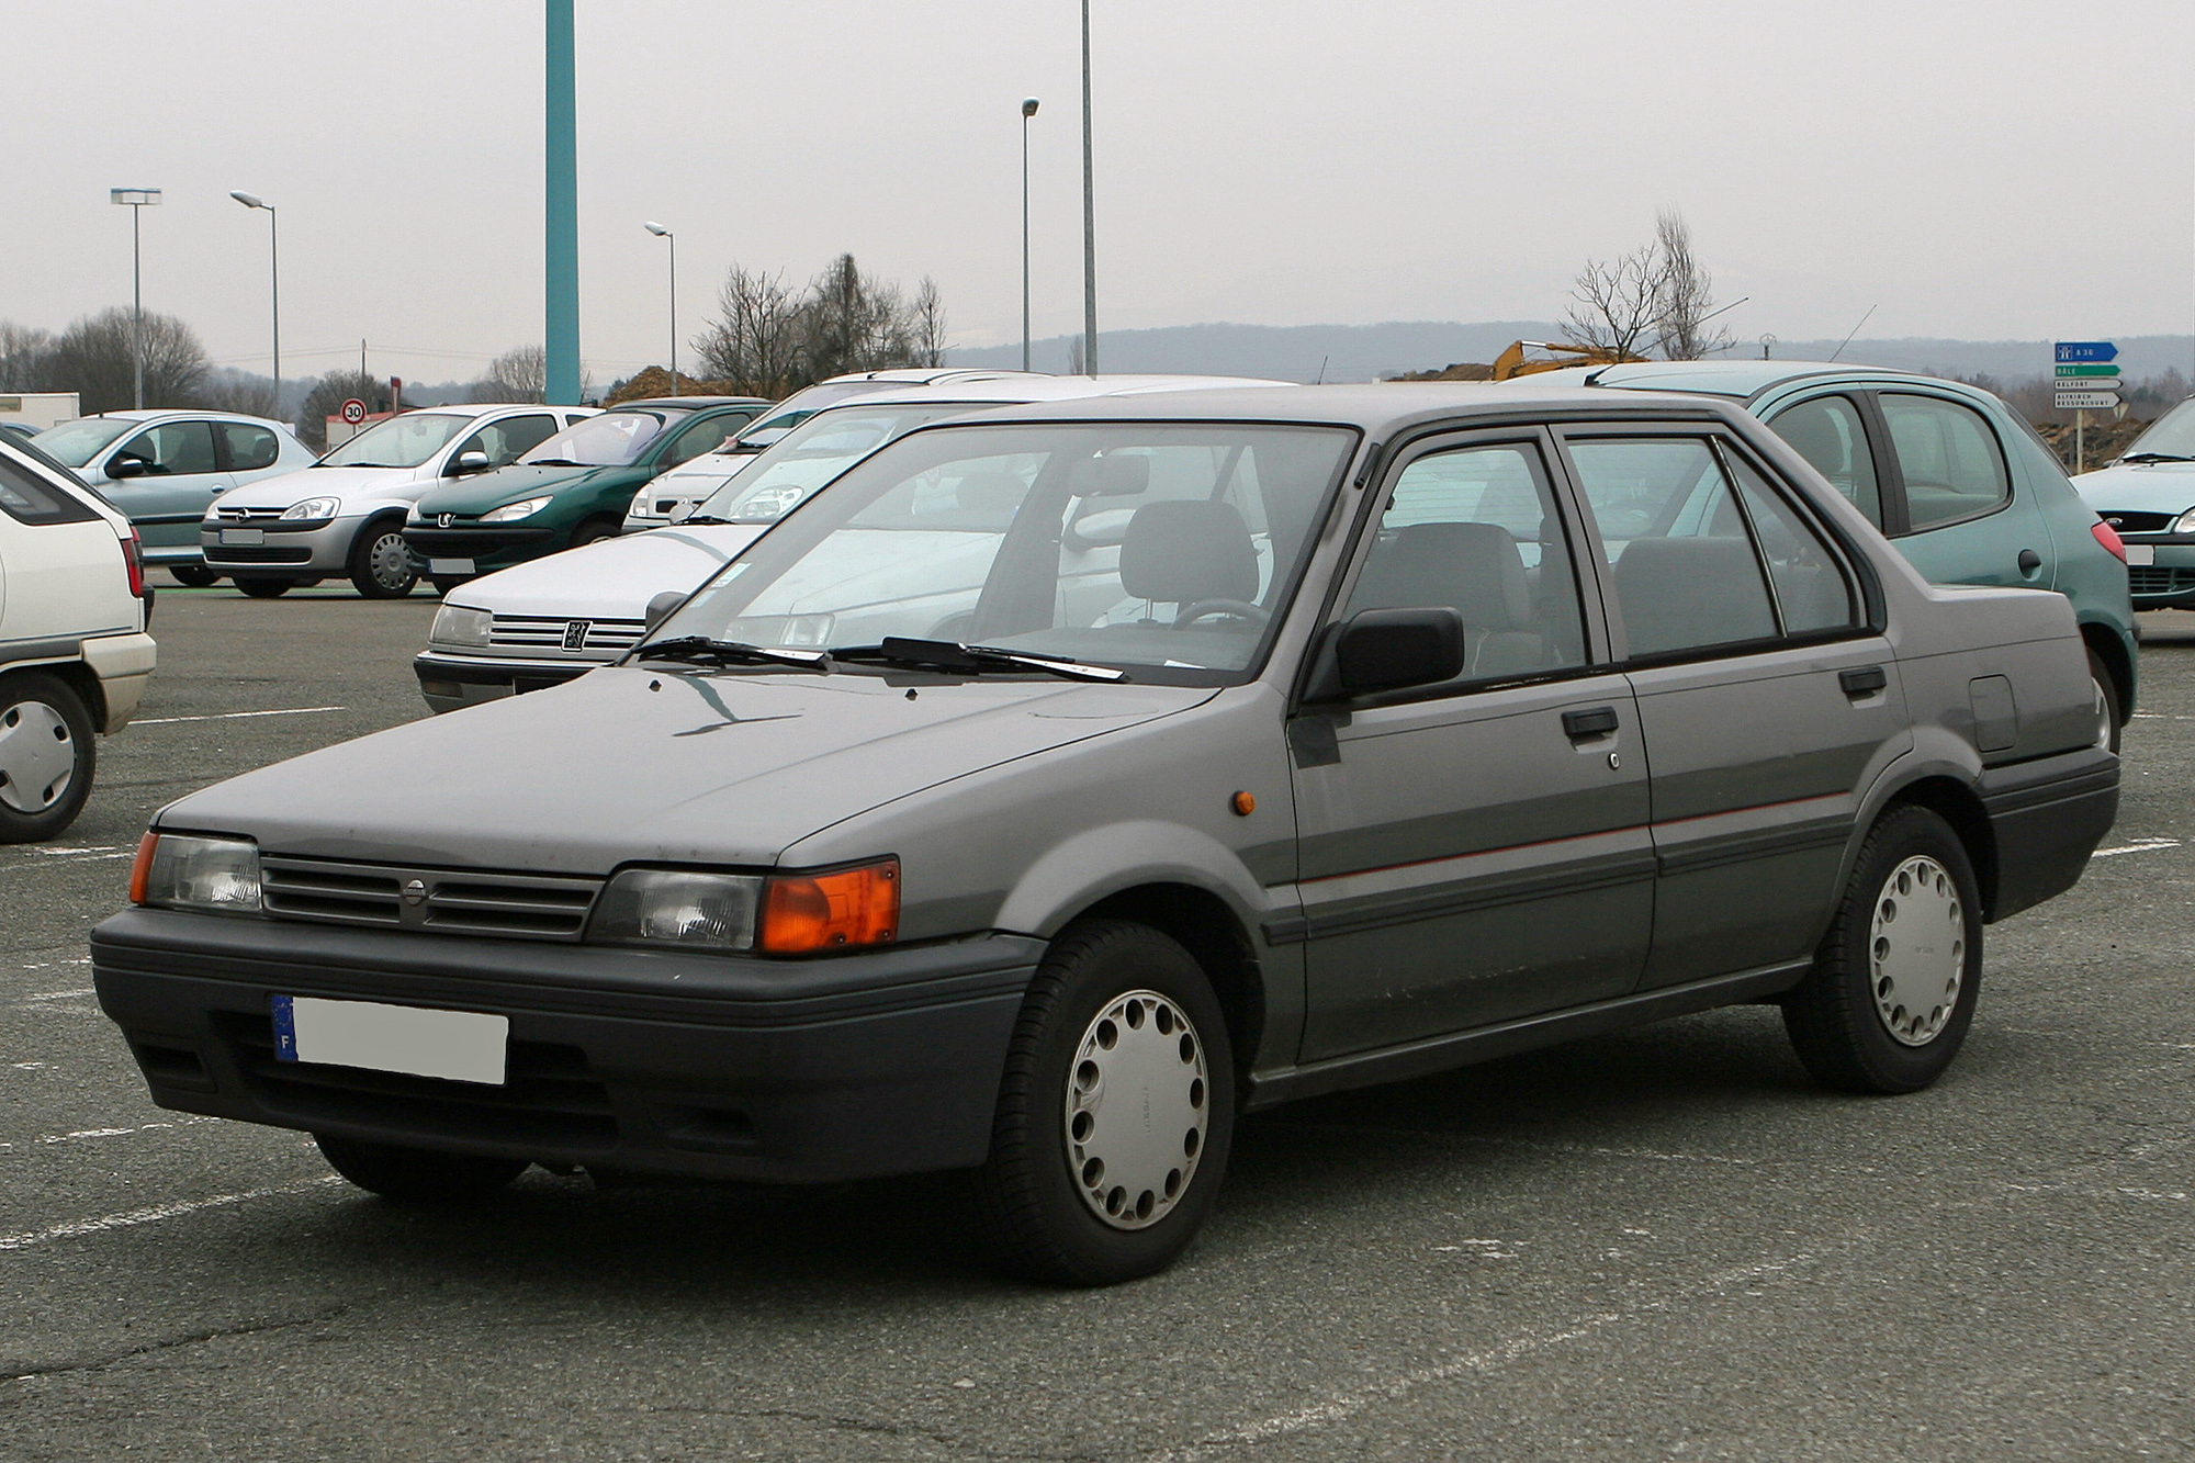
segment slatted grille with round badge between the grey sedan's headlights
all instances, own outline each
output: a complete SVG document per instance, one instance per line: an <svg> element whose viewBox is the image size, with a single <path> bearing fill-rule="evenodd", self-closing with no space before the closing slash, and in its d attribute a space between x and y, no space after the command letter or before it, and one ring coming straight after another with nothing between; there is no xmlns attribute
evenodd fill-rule
<svg viewBox="0 0 2195 1463"><path fill-rule="evenodd" d="M569 942L601 881L266 855L259 887L261 907L288 920Z"/></svg>

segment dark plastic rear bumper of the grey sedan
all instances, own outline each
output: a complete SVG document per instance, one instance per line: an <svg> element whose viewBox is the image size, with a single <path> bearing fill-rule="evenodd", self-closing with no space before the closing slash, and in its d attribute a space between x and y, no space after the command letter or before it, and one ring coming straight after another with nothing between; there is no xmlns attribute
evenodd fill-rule
<svg viewBox="0 0 2195 1463"><path fill-rule="evenodd" d="M2118 758L2085 747L1991 767L1975 789L1997 850L1989 918L2002 920L2070 890L2118 817Z"/></svg>

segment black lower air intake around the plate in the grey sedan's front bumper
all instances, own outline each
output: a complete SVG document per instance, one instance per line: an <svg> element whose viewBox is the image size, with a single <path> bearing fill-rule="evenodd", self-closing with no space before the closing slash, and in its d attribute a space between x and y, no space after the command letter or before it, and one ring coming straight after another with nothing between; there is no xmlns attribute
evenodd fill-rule
<svg viewBox="0 0 2195 1463"><path fill-rule="evenodd" d="M369 1072L274 1054L274 1021L224 1010L215 1028L244 1085L274 1116L303 1127L356 1125L424 1136L540 1142L558 1151L617 1142L610 1090L586 1052L553 1041L511 1041L500 1087L406 1072Z"/></svg>

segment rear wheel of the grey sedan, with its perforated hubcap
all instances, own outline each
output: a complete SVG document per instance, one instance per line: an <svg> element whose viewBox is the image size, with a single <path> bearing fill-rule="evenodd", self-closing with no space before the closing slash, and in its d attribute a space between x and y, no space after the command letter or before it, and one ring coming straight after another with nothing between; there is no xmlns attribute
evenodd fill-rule
<svg viewBox="0 0 2195 1463"><path fill-rule="evenodd" d="M1982 993L1982 892L1938 813L1896 806L1859 846L1853 879L1785 1030L1839 1092L1918 1092L1967 1039Z"/></svg>

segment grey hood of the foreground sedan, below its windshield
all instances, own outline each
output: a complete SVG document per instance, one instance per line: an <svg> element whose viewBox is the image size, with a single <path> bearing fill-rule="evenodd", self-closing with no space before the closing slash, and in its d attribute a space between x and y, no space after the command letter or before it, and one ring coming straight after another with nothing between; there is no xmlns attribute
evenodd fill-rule
<svg viewBox="0 0 2195 1463"><path fill-rule="evenodd" d="M217 782L158 824L246 835L266 852L430 868L770 865L869 808L1214 694L608 666Z"/></svg>

